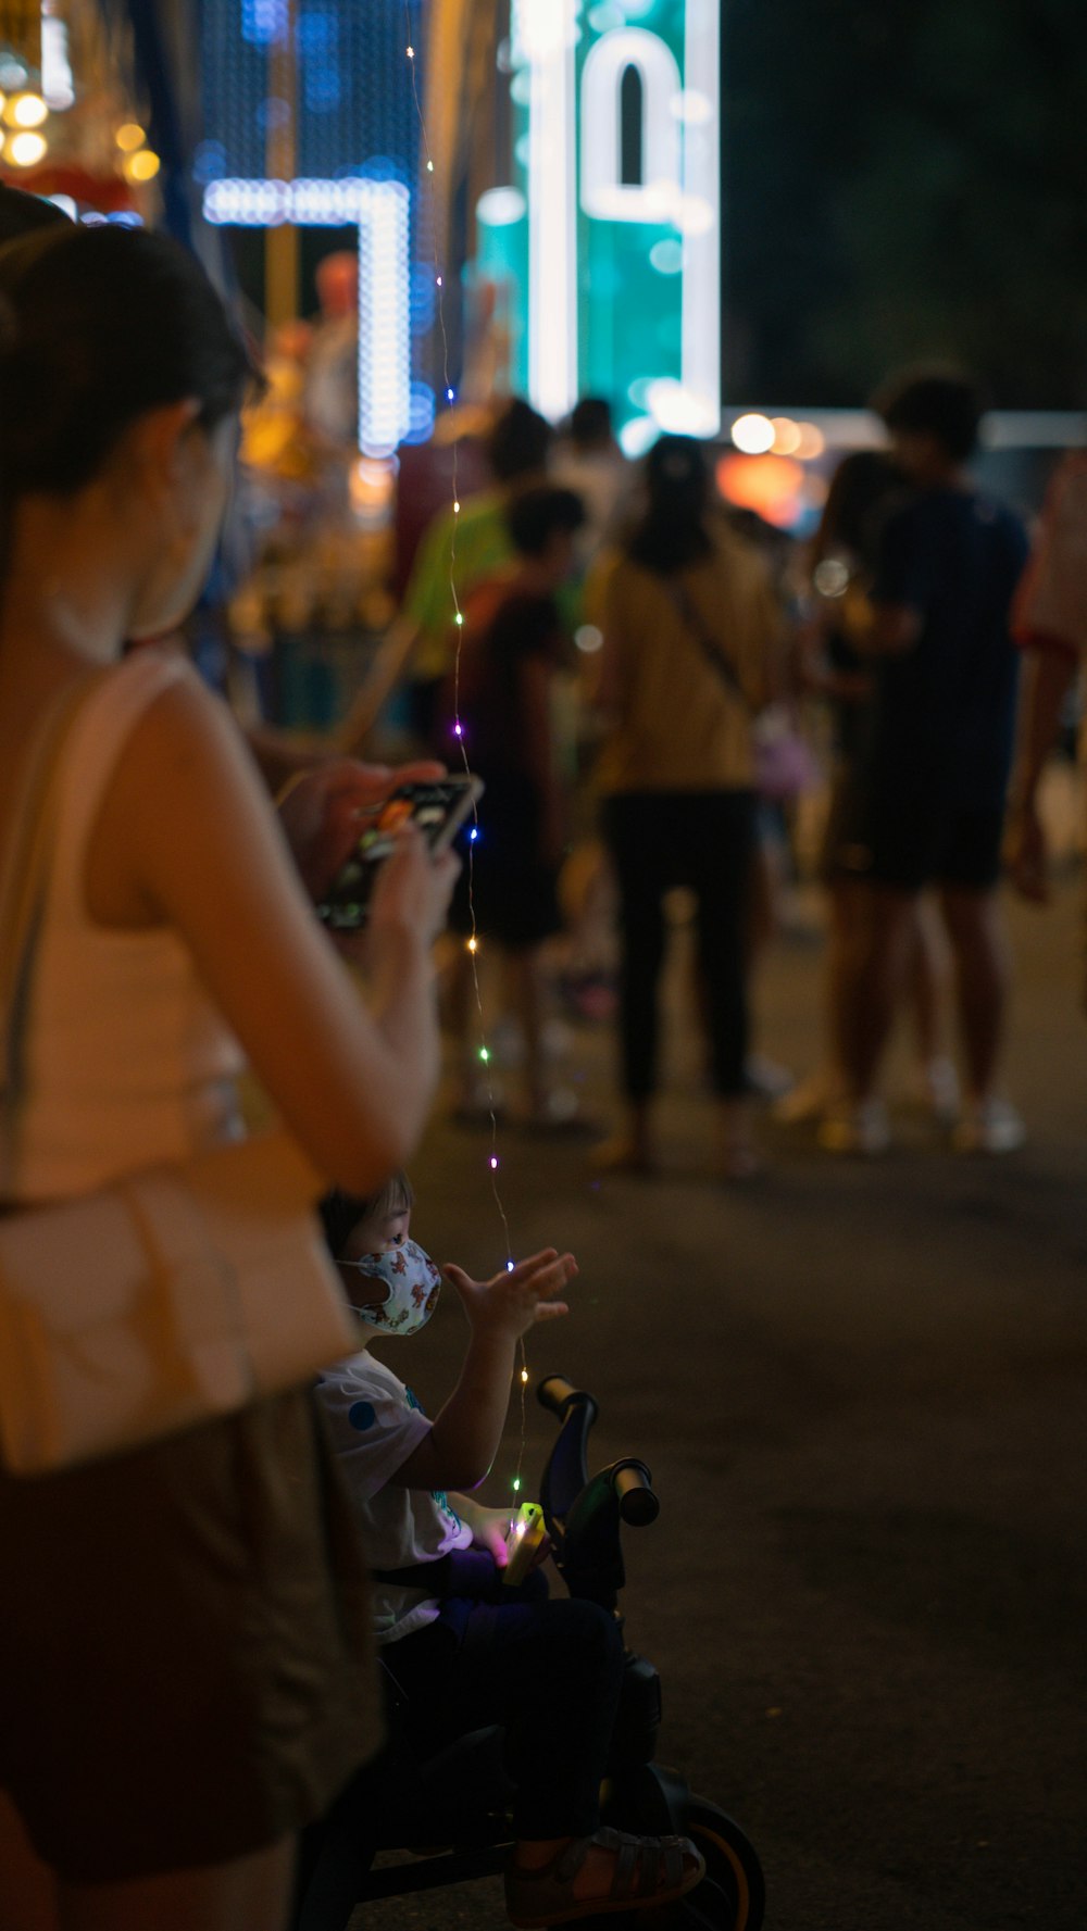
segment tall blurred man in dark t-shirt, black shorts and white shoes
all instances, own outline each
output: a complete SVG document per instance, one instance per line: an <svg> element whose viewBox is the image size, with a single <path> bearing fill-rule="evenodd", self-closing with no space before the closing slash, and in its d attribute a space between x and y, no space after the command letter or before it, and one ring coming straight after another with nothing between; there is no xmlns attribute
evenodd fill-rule
<svg viewBox="0 0 1087 1931"><path fill-rule="evenodd" d="M878 1153L888 1124L878 1070L909 956L917 894L938 886L956 956L963 1052L962 1151L1008 1153L1023 1124L996 1085L1008 948L996 902L1016 726L1010 608L1023 525L973 489L965 463L981 402L948 371L900 378L877 404L911 498L884 525L850 633L875 701L853 865L869 896L840 1054L850 1093L821 1128L834 1153Z"/></svg>

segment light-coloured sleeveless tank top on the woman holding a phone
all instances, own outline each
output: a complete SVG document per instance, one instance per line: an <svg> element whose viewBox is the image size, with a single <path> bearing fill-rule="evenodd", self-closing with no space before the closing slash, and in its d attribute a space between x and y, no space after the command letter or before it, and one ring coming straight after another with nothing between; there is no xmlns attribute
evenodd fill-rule
<svg viewBox="0 0 1087 1931"><path fill-rule="evenodd" d="M58 840L41 925L10 1195L87 1193L241 1132L241 1050L170 927L110 931L85 904L87 844L129 734L172 684L168 651L127 657L83 703L62 747ZM154 798L147 799L154 809Z"/></svg>

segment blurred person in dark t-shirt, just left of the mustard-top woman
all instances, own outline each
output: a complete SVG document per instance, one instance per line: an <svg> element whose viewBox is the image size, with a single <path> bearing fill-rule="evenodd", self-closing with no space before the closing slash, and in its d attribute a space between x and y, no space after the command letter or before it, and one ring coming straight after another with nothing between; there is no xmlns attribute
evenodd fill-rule
<svg viewBox="0 0 1087 1931"><path fill-rule="evenodd" d="M463 645L446 687L450 740L467 751L487 792L479 840L458 881L454 931L494 942L504 956L506 996L525 1035L525 1106L537 1126L554 1118L543 1041L539 952L560 931L558 871L566 842L564 796L552 743L552 682L568 637L556 591L575 564L581 498L541 485L506 512L516 562L483 581L465 606ZM471 836L471 834L469 834ZM452 998L461 1041L460 1110L490 1110L477 1091L473 1006L477 956L463 952Z"/></svg>

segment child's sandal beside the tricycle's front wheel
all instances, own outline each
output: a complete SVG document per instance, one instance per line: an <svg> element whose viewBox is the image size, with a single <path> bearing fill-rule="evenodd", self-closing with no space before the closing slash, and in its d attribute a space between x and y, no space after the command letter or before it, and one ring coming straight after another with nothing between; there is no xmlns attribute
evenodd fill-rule
<svg viewBox="0 0 1087 1931"><path fill-rule="evenodd" d="M591 1846L610 1850L616 1858L612 1887L604 1896L573 1894L577 1877ZM573 1836L550 1863L539 1871L506 1867L506 1912L517 1931L544 1931L573 1917L597 1917L602 1912L637 1912L651 1904L674 1904L705 1877L705 1860L687 1836L631 1836L629 1831L595 1831L593 1836Z"/></svg>

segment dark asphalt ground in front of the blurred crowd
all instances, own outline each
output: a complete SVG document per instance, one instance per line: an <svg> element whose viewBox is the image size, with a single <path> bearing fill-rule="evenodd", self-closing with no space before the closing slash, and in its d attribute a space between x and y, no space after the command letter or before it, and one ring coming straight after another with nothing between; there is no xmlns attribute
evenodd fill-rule
<svg viewBox="0 0 1087 1931"><path fill-rule="evenodd" d="M599 1460L653 1468L627 1634L664 1678L660 1757L759 1846L772 1931L1087 1931L1087 1020L1077 896L1012 908L1008 1087L1027 1149L952 1157L921 1120L878 1162L766 1132L770 1172L707 1178L709 1103L672 985L668 1172L593 1186L583 1149L500 1135L517 1253L570 1245L570 1321L529 1342L600 1402ZM778 944L761 1045L817 1041L817 948ZM585 1105L610 1039L577 1031ZM436 1124L413 1232L492 1273L487 1141ZM388 1359L431 1410L452 1292ZM411 1359L407 1359L411 1356ZM529 1404L525 1471L548 1448ZM517 1460L516 1417L488 1498ZM500 1927L498 1883L357 1914Z"/></svg>

